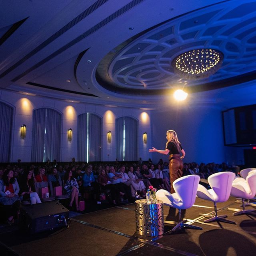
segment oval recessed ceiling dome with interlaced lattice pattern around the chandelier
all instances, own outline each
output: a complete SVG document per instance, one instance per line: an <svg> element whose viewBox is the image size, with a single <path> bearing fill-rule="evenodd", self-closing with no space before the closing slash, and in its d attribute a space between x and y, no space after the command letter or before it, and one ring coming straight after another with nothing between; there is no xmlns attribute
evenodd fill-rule
<svg viewBox="0 0 256 256"><path fill-rule="evenodd" d="M230 86L235 84L234 77L245 78L246 73L252 79L256 64L255 16L255 1L235 0L168 20L109 52L98 65L96 80L103 88L119 94L153 95L178 85L194 91L211 90L217 84ZM196 81L175 74L172 60L200 48L224 54L220 70Z"/></svg>

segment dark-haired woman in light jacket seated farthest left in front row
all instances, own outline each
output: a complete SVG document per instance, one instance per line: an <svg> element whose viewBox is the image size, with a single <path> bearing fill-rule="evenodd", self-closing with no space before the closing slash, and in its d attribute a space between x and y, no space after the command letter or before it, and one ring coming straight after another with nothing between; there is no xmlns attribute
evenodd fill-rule
<svg viewBox="0 0 256 256"><path fill-rule="evenodd" d="M3 179L0 180L0 203L4 205L8 224L13 224L17 216L20 207L19 191L20 187L13 177L13 171L7 170L3 174Z"/></svg>

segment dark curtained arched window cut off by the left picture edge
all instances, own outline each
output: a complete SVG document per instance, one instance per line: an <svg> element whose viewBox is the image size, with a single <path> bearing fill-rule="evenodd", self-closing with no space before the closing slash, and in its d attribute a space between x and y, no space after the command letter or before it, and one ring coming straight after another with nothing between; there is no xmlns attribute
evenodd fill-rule
<svg viewBox="0 0 256 256"><path fill-rule="evenodd" d="M10 162L13 108L0 102L0 162Z"/></svg>

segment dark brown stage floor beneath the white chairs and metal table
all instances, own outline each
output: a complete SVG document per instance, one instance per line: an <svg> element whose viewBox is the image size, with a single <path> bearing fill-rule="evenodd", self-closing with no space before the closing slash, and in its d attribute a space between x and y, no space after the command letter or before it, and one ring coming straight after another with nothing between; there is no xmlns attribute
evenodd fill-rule
<svg viewBox="0 0 256 256"><path fill-rule="evenodd" d="M204 224L200 213L214 210L213 203L196 198L194 206L186 210L185 218L203 230L185 229L168 232L173 225L165 224L165 234L159 237L139 236L135 230L135 204L108 208L71 218L69 228L28 235L18 227L0 228L1 256L113 256L113 255L200 255L255 256L256 218L233 216L228 207L239 208L235 198L217 204L218 214L228 215L236 224L212 222ZM253 209L252 206L247 206ZM169 207L164 206L164 218ZM166 234L166 232L168 232ZM2 250L8 248L8 250ZM3 253L2 253L3 252Z"/></svg>

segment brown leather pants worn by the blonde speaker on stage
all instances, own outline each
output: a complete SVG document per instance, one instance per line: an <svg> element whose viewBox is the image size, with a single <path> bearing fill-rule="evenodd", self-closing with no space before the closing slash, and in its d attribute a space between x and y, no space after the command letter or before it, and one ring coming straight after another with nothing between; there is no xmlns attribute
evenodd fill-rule
<svg viewBox="0 0 256 256"><path fill-rule="evenodd" d="M170 182L171 182L171 193L175 193L172 186L174 180L182 177L183 162L180 159L179 154L173 154L169 157L169 172L170 172Z"/></svg>

